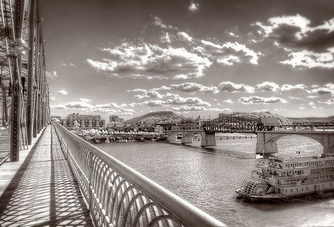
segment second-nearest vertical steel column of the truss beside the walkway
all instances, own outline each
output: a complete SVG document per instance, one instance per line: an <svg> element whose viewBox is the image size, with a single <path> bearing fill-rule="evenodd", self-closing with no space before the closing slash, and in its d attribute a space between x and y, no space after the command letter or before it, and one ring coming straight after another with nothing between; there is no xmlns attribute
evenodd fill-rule
<svg viewBox="0 0 334 227"><path fill-rule="evenodd" d="M28 144L31 145L31 139L33 136L33 77L34 77L34 54L35 49L35 0L31 0L30 13L29 13L29 56L28 56L28 86L26 97L26 134L28 137Z"/></svg>

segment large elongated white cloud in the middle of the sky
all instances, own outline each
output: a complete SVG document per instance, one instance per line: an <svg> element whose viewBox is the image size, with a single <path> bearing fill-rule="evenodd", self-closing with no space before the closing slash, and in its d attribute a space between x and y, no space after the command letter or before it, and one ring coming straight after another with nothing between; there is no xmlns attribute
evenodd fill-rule
<svg viewBox="0 0 334 227"><path fill-rule="evenodd" d="M190 79L202 77L211 61L205 56L191 53L185 48L159 47L146 43L123 42L115 48L102 48L110 59L87 63L111 77L142 79Z"/></svg>

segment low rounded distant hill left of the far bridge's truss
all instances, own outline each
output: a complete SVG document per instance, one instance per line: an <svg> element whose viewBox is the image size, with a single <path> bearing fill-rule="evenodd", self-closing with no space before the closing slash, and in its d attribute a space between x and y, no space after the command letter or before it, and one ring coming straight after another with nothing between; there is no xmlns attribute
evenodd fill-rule
<svg viewBox="0 0 334 227"><path fill-rule="evenodd" d="M180 121L183 119L183 116L175 114L173 111L157 111L148 114L144 114L143 116L138 116L136 118L132 118L126 120L126 124L135 124L135 123L145 123L145 124L157 124L157 123L170 123L175 121Z"/></svg>

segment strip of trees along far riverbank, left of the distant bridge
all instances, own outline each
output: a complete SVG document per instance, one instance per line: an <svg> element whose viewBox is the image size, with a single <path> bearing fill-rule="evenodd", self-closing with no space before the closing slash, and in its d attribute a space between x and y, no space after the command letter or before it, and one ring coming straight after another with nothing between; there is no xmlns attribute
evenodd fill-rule
<svg viewBox="0 0 334 227"><path fill-rule="evenodd" d="M165 141L166 136L157 132L114 132L110 134L106 130L72 130L74 134L80 136L89 143L138 143L150 141Z"/></svg>

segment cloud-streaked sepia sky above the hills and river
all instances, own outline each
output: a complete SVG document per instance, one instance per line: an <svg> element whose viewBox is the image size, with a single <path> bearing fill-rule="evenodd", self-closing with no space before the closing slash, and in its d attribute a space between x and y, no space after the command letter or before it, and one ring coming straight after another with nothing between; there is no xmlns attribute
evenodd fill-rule
<svg viewBox="0 0 334 227"><path fill-rule="evenodd" d="M41 0L51 115L334 115L334 1Z"/></svg>

